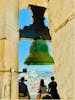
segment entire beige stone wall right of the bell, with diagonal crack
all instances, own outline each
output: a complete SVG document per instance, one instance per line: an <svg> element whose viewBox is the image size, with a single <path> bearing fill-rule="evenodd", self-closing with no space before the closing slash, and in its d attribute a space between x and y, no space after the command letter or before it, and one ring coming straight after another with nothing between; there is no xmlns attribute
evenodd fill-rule
<svg viewBox="0 0 75 100"><path fill-rule="evenodd" d="M62 99L74 97L74 1L50 0L48 5L54 76Z"/></svg>

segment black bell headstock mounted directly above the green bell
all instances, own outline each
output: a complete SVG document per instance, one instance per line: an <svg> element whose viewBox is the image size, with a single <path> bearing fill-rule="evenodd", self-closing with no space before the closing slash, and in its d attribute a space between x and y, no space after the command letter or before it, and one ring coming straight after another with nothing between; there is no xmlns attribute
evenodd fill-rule
<svg viewBox="0 0 75 100"><path fill-rule="evenodd" d="M23 30L20 29L20 38L39 38L51 40L48 27L44 25L44 13L46 8L29 5L33 12L33 24L30 26L25 26Z"/></svg>

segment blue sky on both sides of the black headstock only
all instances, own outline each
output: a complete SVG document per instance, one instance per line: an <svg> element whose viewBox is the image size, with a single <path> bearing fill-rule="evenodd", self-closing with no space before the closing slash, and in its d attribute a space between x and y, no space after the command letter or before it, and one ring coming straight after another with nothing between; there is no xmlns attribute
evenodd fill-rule
<svg viewBox="0 0 75 100"><path fill-rule="evenodd" d="M26 25L26 26L29 26L30 24L33 23L33 20L32 20L32 12L31 10L28 10L28 9L22 9L20 10L19 12L19 28L23 29L23 27ZM44 20L44 24L48 27L48 21L47 19L45 18Z"/></svg>

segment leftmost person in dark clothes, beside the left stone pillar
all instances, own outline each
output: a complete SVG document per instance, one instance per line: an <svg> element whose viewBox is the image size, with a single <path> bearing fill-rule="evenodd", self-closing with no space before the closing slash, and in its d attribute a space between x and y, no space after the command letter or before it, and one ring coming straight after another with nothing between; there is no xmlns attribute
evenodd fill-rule
<svg viewBox="0 0 75 100"><path fill-rule="evenodd" d="M24 83L24 81L25 81L25 79L24 79L24 77L22 77L21 82L19 82L19 97L22 98L22 99L24 99L24 98L30 99L28 87Z"/></svg>

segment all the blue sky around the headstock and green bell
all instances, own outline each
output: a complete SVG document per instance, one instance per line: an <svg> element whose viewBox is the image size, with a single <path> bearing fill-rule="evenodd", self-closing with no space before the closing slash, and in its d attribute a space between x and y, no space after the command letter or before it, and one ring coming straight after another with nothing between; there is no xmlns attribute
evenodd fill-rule
<svg viewBox="0 0 75 100"><path fill-rule="evenodd" d="M19 28L23 29L23 27L29 26L32 24L32 12L27 10L27 9L22 9L19 12ZM45 18L44 23L46 26L48 25L48 20ZM44 65L44 66L27 66L24 64L25 59L29 55L29 48L32 44L33 40L20 40L19 42L19 51L18 51L18 56L19 56L19 70L22 71L24 67L28 68L28 70L50 70L52 71L52 66L51 65ZM51 54L51 44L50 42L47 42L49 53Z"/></svg>

